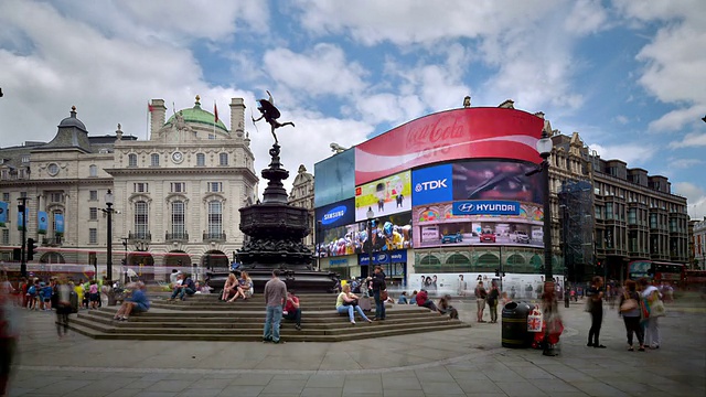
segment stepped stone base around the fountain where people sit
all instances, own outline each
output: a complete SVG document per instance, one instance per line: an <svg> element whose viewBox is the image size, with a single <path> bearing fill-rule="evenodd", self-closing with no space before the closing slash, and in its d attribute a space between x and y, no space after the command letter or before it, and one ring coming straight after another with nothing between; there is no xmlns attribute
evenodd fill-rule
<svg viewBox="0 0 706 397"><path fill-rule="evenodd" d="M215 294L193 296L186 301L153 297L148 313L115 321L117 308L82 310L69 322L78 333L104 340L153 341L261 341L265 302L261 296L248 301L221 302ZM425 333L470 326L447 315L407 304L388 304L387 320L356 324L335 312L335 296L307 294L301 300L301 331L282 320L281 337L287 342L340 342L408 333ZM375 307L373 302L373 308ZM374 310L366 313L373 318Z"/></svg>

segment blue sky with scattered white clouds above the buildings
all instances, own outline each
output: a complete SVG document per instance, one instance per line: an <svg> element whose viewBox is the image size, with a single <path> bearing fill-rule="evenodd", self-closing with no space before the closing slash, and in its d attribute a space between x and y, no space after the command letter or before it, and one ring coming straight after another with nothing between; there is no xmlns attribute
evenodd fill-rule
<svg viewBox="0 0 706 397"><path fill-rule="evenodd" d="M706 2L0 2L0 147L49 141L72 105L92 135L146 137L146 104L269 89L295 173L414 118L461 107L544 111L603 159L648 169L706 215ZM248 122L256 167L271 137Z"/></svg>

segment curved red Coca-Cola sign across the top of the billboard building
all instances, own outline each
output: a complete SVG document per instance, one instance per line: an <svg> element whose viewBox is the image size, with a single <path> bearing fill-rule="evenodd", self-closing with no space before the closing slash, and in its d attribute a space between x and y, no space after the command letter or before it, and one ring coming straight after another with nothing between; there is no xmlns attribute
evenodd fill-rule
<svg viewBox="0 0 706 397"><path fill-rule="evenodd" d="M544 120L504 108L463 108L409 121L355 147L355 184L424 164L459 159L539 163Z"/></svg>

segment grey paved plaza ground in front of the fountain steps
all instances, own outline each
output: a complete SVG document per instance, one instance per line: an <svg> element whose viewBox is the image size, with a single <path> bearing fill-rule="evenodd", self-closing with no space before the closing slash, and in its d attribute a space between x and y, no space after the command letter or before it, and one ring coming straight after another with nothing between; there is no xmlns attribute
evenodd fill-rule
<svg viewBox="0 0 706 397"><path fill-rule="evenodd" d="M563 309L561 354L501 346L500 324L343 343L58 340L50 312L21 311L10 396L705 396L706 309L667 307L660 350L628 352L606 310L586 346L584 305ZM306 315L306 313L304 313ZM488 319L488 312L485 318Z"/></svg>

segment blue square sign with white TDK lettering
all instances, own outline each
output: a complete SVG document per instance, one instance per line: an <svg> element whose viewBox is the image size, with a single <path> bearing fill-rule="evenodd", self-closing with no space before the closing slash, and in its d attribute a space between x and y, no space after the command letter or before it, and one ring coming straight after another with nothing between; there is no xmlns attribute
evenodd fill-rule
<svg viewBox="0 0 706 397"><path fill-rule="evenodd" d="M453 200L451 164L428 167L411 172L411 205L450 202Z"/></svg>

